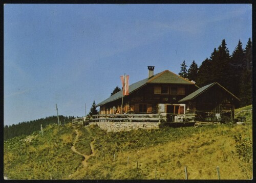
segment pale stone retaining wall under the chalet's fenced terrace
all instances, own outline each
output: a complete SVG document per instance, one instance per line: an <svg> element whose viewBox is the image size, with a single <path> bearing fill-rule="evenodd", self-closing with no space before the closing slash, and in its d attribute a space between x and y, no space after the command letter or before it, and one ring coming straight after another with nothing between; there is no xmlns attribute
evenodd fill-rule
<svg viewBox="0 0 256 183"><path fill-rule="evenodd" d="M107 132L130 131L132 129L156 129L159 128L159 122L92 122Z"/></svg>

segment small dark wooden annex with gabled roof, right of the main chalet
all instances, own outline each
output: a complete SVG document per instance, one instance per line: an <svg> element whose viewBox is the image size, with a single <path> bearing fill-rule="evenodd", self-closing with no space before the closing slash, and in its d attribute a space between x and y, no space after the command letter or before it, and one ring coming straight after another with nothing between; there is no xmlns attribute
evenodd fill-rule
<svg viewBox="0 0 256 183"><path fill-rule="evenodd" d="M234 106L240 99L221 86L211 83L190 93L179 103L186 104L186 114L197 116L197 121L233 121Z"/></svg>

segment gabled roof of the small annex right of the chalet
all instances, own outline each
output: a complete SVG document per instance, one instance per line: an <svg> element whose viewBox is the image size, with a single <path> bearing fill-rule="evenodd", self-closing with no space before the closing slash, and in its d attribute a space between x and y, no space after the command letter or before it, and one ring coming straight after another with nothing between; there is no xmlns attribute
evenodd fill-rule
<svg viewBox="0 0 256 183"><path fill-rule="evenodd" d="M209 85L206 85L202 88L199 88L198 90L196 90L193 93L190 93L189 95L187 95L186 97L182 98L180 102L184 102L184 101L188 101L188 100L193 100L195 99L197 96L201 95L202 93L204 93L206 90L208 90L209 88L211 88L214 85L218 85L219 87L221 87L223 90L225 90L227 93L229 93L230 95L232 95L234 98L236 98L237 100L241 101L238 97L234 96L234 94L232 94L230 91L228 91L227 89L225 89L223 86L221 86L219 83L215 82L215 83L211 83Z"/></svg>

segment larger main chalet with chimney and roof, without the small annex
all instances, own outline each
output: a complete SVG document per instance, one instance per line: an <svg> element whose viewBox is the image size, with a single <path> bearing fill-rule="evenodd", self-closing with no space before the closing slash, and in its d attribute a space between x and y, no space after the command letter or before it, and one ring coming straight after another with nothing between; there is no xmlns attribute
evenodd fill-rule
<svg viewBox="0 0 256 183"><path fill-rule="evenodd" d="M154 66L148 66L148 77L129 86L129 95L123 97L123 113L158 113L158 104L164 106L167 113L184 114L185 106L179 100L196 91L195 83L164 70L154 75ZM100 114L121 112L122 90L98 103Z"/></svg>

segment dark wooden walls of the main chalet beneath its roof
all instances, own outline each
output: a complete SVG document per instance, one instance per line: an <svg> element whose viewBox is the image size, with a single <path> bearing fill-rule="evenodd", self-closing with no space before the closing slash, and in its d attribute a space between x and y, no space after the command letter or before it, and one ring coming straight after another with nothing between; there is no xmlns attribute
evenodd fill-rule
<svg viewBox="0 0 256 183"><path fill-rule="evenodd" d="M158 78L158 80L160 79ZM178 101L180 99L198 89L195 84L190 83L189 81L185 82L188 84L146 83L136 91L123 97L122 113L155 114L158 113L157 104L159 103L179 105ZM120 114L121 103L122 98L118 98L114 101L100 105L100 114ZM169 112L179 114L181 109L175 109L174 107L174 110L169 109Z"/></svg>

